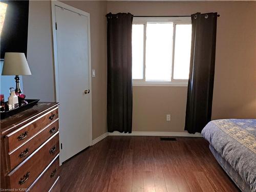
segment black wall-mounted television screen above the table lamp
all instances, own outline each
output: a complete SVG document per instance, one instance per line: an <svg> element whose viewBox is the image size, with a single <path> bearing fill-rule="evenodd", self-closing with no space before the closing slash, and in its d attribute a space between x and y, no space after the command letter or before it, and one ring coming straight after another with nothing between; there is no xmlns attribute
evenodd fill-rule
<svg viewBox="0 0 256 192"><path fill-rule="evenodd" d="M20 52L27 56L29 1L1 1L7 4L1 32L1 59L5 52Z"/></svg>

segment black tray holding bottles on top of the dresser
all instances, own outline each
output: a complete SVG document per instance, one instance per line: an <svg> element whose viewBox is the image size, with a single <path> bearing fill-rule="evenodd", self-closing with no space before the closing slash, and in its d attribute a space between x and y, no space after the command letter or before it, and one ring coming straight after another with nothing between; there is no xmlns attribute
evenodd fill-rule
<svg viewBox="0 0 256 192"><path fill-rule="evenodd" d="M1 119L5 119L5 118L15 115L17 113L25 111L29 108L32 108L32 106L34 106L40 99L25 99L25 100L28 102L28 104L24 104L22 106L19 106L18 108L13 109L13 110L1 112Z"/></svg>

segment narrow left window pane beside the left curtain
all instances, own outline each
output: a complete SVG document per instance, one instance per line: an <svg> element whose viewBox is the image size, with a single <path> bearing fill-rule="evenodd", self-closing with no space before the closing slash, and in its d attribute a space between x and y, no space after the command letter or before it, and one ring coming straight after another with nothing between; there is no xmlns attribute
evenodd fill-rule
<svg viewBox="0 0 256 192"><path fill-rule="evenodd" d="M133 25L133 79L143 79L144 25Z"/></svg>

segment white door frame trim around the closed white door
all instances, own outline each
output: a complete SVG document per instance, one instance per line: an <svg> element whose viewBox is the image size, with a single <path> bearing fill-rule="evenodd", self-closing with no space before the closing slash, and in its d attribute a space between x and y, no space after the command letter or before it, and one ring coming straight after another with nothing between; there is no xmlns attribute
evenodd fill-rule
<svg viewBox="0 0 256 192"><path fill-rule="evenodd" d="M92 68L91 68L91 35L90 35L90 13L76 9L67 4L61 3L59 1L52 1L52 35L53 35L53 58L54 58L54 71L55 71L55 91L56 91L56 101L59 102L59 80L58 80L58 54L57 54L57 34L55 30L55 6L73 11L75 13L84 15L88 17L88 59L89 59L89 89L92 93ZM89 96L89 142L92 145L92 94ZM61 104L61 103L60 103Z"/></svg>

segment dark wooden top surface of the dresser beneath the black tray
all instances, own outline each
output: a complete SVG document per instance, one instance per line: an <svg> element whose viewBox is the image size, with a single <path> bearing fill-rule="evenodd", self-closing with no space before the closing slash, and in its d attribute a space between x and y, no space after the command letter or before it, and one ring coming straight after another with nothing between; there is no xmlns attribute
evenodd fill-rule
<svg viewBox="0 0 256 192"><path fill-rule="evenodd" d="M32 108L23 112L17 113L5 119L1 119L1 135L6 135L11 131L14 131L18 127L26 124L30 120L37 118L38 116L56 108L59 103L57 102L38 102Z"/></svg>

